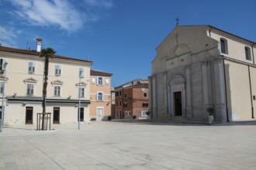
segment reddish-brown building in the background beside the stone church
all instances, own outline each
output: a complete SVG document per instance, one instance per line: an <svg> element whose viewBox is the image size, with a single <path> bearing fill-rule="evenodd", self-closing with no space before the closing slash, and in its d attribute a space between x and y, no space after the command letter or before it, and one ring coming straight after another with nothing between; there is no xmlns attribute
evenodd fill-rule
<svg viewBox="0 0 256 170"><path fill-rule="evenodd" d="M147 118L149 91L148 80L133 80L115 88L116 119Z"/></svg>

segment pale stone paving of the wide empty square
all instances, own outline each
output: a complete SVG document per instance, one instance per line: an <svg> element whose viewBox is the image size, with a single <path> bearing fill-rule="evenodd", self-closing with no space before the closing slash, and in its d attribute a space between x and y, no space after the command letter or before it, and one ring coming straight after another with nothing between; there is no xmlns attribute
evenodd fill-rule
<svg viewBox="0 0 256 170"><path fill-rule="evenodd" d="M256 122L214 125L92 122L11 126L0 169L256 169Z"/></svg>

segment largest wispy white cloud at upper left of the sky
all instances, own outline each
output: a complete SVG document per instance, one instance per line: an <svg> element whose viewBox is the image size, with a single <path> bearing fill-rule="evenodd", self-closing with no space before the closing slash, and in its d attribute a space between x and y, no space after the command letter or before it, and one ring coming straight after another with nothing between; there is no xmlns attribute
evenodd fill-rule
<svg viewBox="0 0 256 170"><path fill-rule="evenodd" d="M67 32L76 32L85 22L100 19L96 8L112 8L112 0L9 0L20 19L33 26L57 28ZM97 12L96 12L97 11Z"/></svg>

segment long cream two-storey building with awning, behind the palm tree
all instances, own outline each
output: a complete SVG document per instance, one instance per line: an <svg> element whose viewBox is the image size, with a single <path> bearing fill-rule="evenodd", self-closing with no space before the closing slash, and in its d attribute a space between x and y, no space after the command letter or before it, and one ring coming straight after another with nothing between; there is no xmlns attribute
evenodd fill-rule
<svg viewBox="0 0 256 170"><path fill-rule="evenodd" d="M0 46L0 59L8 63L0 73L1 98L5 84L4 124L36 124L42 113L44 58L37 50ZM91 61L55 55L49 62L46 111L51 124L78 122L78 90L81 87L81 121L89 121ZM79 84L79 73L81 83Z"/></svg>

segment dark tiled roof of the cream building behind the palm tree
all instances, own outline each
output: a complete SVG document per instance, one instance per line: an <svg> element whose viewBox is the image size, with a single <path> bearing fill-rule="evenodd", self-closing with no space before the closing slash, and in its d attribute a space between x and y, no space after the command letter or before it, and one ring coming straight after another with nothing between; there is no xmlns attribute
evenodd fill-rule
<svg viewBox="0 0 256 170"><path fill-rule="evenodd" d="M26 54L26 55L32 55L32 56L40 56L40 52L36 52L36 50L28 50L28 49L16 49L16 48L11 48L8 46L0 46L0 51L8 52L8 53L20 53L20 54ZM71 60L76 60L76 61L84 61L88 63L92 63L92 61L85 60L85 59L75 59L67 56L58 56L54 55L55 58L58 59L71 59Z"/></svg>

